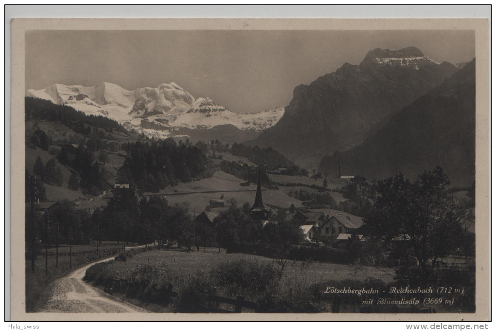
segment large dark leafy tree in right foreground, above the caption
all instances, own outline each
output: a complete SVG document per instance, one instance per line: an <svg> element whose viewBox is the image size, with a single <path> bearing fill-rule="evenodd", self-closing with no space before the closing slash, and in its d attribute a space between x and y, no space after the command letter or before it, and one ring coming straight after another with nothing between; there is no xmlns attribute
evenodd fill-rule
<svg viewBox="0 0 496 331"><path fill-rule="evenodd" d="M427 285L439 258L456 250L464 235L466 202L447 192L448 177L440 167L410 183L401 174L377 183L379 197L364 227L390 242L403 238L403 270L411 285ZM411 261L410 255L417 263ZM418 264L418 266L416 266Z"/></svg>

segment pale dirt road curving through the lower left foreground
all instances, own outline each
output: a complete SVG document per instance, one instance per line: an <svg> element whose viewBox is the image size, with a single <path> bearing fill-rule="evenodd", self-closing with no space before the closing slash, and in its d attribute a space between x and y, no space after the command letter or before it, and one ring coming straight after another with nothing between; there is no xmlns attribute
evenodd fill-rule
<svg viewBox="0 0 496 331"><path fill-rule="evenodd" d="M114 259L110 257L75 269L55 281L54 293L42 312L63 313L144 313L143 308L113 297L83 281L91 265Z"/></svg>

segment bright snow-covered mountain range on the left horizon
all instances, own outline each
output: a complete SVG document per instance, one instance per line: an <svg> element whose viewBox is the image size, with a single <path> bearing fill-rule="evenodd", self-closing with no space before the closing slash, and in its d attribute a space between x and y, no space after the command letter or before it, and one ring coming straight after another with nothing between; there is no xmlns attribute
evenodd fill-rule
<svg viewBox="0 0 496 331"><path fill-rule="evenodd" d="M85 114L106 116L127 130L155 137L169 137L181 128L211 129L225 125L261 131L272 127L284 114L284 108L233 113L209 98L195 99L174 82L132 91L113 83L95 86L54 84L41 90L29 89L26 96L71 106Z"/></svg>

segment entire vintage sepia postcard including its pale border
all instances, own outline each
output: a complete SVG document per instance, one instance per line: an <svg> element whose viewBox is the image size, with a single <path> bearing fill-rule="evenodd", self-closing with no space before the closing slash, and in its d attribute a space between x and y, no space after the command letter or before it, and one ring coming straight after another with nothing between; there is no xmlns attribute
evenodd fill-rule
<svg viewBox="0 0 496 331"><path fill-rule="evenodd" d="M487 20L11 27L13 321L489 319Z"/></svg>

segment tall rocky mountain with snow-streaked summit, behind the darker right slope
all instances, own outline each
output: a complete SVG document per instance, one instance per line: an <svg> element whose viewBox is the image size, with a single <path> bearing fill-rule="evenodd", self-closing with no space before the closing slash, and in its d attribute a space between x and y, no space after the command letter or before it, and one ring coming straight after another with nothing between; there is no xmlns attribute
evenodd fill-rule
<svg viewBox="0 0 496 331"><path fill-rule="evenodd" d="M298 162L352 148L457 67L437 64L416 48L375 49L359 65L344 64L294 90L281 120L248 143L272 146Z"/></svg>

